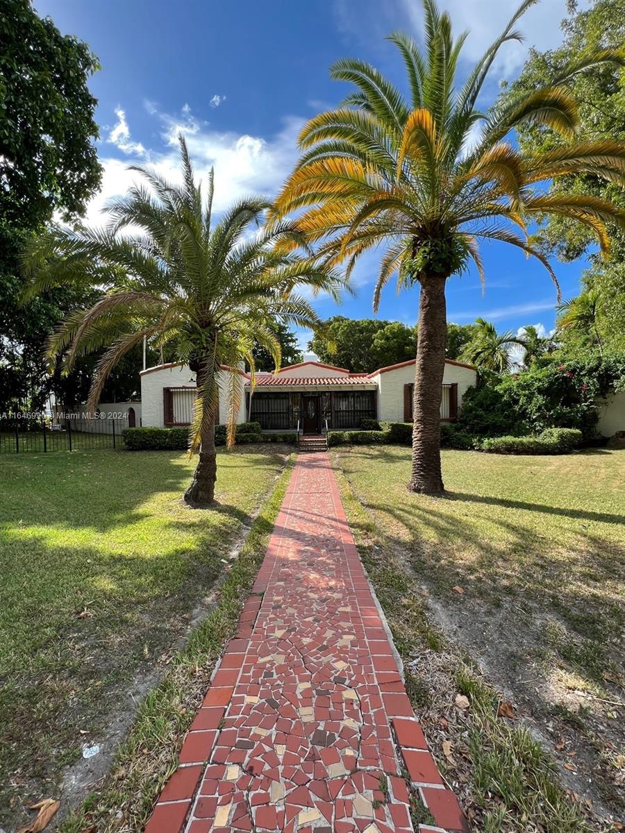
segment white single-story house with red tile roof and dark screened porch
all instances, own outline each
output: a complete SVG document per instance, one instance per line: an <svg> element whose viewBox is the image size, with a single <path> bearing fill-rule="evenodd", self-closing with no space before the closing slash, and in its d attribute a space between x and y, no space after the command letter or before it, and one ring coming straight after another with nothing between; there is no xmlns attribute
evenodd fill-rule
<svg viewBox="0 0 625 833"><path fill-rule="evenodd" d="M219 375L219 422L228 421L231 371ZM252 390L249 374L238 371L241 407L237 422L260 422L263 431L318 434L359 428L363 418L412 421L414 360L371 373L302 362L277 373L257 373ZM468 387L476 383L475 367L445 360L441 418L453 421ZM165 364L141 372L144 426L188 425L193 415L195 374L187 365Z"/></svg>

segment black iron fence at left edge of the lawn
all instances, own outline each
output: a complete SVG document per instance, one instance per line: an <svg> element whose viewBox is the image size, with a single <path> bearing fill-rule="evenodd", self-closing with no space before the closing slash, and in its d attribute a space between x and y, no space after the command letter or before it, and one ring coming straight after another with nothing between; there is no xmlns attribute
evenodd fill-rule
<svg viewBox="0 0 625 833"><path fill-rule="evenodd" d="M82 412L61 419L10 415L0 419L0 454L47 451L92 451L121 448L127 416L89 416Z"/></svg>

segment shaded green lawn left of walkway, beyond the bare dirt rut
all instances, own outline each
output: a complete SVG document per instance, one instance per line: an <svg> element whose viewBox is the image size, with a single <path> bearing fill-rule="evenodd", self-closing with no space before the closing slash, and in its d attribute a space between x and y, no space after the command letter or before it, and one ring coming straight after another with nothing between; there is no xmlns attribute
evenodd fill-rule
<svg viewBox="0 0 625 833"><path fill-rule="evenodd" d="M128 686L163 669L228 548L283 469L218 456L218 501L180 500L179 452L3 456L0 474L0 806L57 789Z"/></svg>

